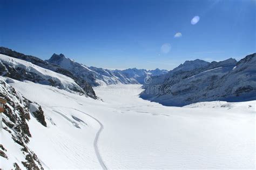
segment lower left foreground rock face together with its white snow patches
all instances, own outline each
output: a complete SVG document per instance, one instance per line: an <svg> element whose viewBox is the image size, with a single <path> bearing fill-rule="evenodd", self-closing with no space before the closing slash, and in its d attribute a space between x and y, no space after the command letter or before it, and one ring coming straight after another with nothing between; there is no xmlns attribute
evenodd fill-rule
<svg viewBox="0 0 256 170"><path fill-rule="evenodd" d="M31 138L28 121L31 119L32 111L36 112L35 117L38 119L38 124L41 123L43 126L47 126L41 106L18 94L2 78L0 79L0 97L7 101L5 111L2 114L3 133L1 133L1 138L3 139L3 144L0 145L0 156L4 158L1 160L2 163L13 165L14 169L43 169L36 153L28 147ZM37 111L30 110L30 105L39 109ZM9 140L14 140L16 145L10 146L8 144L5 146L6 137L10 138ZM18 156L23 157L21 160L24 161L17 160Z"/></svg>

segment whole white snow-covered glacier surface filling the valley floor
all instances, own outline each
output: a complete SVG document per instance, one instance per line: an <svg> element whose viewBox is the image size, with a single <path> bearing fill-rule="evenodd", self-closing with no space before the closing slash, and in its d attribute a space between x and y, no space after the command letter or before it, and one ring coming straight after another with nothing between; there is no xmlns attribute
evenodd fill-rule
<svg viewBox="0 0 256 170"><path fill-rule="evenodd" d="M46 169L255 168L256 101L178 108L139 98L134 84L95 88L103 101L29 81L10 85L42 106L48 127L31 117L29 147Z"/></svg>

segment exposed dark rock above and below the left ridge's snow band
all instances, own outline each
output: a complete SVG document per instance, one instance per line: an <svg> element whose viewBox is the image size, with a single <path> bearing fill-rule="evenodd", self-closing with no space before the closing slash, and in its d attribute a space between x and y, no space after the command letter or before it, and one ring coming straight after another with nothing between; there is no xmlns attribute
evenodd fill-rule
<svg viewBox="0 0 256 170"><path fill-rule="evenodd" d="M11 49L5 48L5 47L0 47L0 54L8 55L8 56L11 56L12 58L16 58L16 59L25 60L25 61L33 63L36 66L39 66L39 67L42 67L45 69L49 69L49 70L52 70L53 72L71 77L73 80L75 80L75 83L77 83L78 86L80 86L80 88L82 88L82 90L80 90L81 93L84 93L91 98L95 98L95 99L97 98L95 91L92 89L90 83L86 82L83 79L80 79L80 77L76 77L71 72L69 72L69 70L59 67L58 65L48 63L48 62L41 60L35 56L25 55L22 53L18 53L16 51L12 51ZM6 72L6 69L10 73ZM3 76L9 76L9 77L12 77L17 80L24 79L24 80L33 81L33 79L39 78L35 74L26 72L21 67L18 67L18 69L11 68L11 66L8 66L8 63L3 63L3 62L2 62L2 64L0 63L0 72L2 72L2 75L5 72L5 74ZM24 73L26 73L26 75ZM52 86L60 85L60 84L57 84L57 82L55 82L55 80L53 80L53 79L49 79L47 81ZM35 80L33 82L35 82ZM71 89L71 90L79 91L79 88L78 89L75 88L75 89Z"/></svg>

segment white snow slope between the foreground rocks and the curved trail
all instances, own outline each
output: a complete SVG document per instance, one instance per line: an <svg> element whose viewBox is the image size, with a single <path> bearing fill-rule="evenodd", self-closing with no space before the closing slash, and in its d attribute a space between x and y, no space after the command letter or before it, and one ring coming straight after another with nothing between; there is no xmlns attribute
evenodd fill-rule
<svg viewBox="0 0 256 170"><path fill-rule="evenodd" d="M30 114L31 119L26 122L30 132L29 142L26 145L37 155L44 168L100 168L93 147L100 124L90 115L86 115L85 110L79 111L77 108L80 105L78 100L87 101L85 105L95 100L78 94L71 95L72 93L68 91L30 81L12 80L12 82L15 83L11 85L21 85L24 94L29 94L26 95L27 97L37 98L37 101L42 104L47 128L39 124ZM17 114L21 112L17 111ZM4 126L6 126L5 123ZM11 141L8 132L5 130L2 132L4 137L1 138L3 139L1 144L7 150L6 154L14 159L5 160L0 157L1 167L10 169L8 167L13 167L12 161L16 159L17 163L21 163L24 158L19 156L19 154L22 155L19 150L21 146ZM17 145L16 148L13 148L15 145ZM3 163L6 166L3 166ZM20 165L19 167L22 168Z"/></svg>

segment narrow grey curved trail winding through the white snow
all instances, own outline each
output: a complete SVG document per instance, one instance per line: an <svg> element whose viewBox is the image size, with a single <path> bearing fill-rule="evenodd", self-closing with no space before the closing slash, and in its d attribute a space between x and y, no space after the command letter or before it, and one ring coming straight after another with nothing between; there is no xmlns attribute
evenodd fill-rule
<svg viewBox="0 0 256 170"><path fill-rule="evenodd" d="M51 108L69 108L69 107L51 107ZM75 109L75 108L69 108L69 109L73 109L73 110L77 110L79 112L82 112L83 114L91 117L92 119L94 119L96 122L98 122L98 124L100 125L100 128L98 130L98 132L96 133L96 136L95 136L95 139L94 139L94 142L93 142L93 146L94 146L94 149L95 149L95 153L96 153L96 156L97 156L97 159L99 161L99 164L100 166L104 169L104 170L107 170L107 167L106 165L104 164L104 161L102 160L102 157L99 153L99 149L98 149L98 139L99 139L99 135L100 135L100 132L102 132L102 130L104 129L104 126L101 122L99 122L98 119L96 119L95 117L89 115L89 114L86 114L85 112L83 111L80 111L78 109Z"/></svg>

